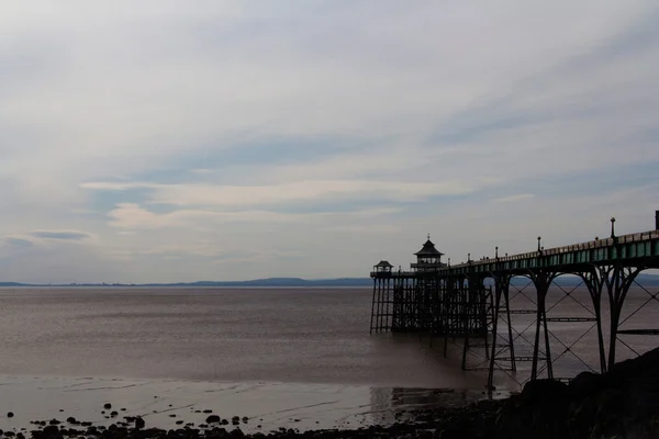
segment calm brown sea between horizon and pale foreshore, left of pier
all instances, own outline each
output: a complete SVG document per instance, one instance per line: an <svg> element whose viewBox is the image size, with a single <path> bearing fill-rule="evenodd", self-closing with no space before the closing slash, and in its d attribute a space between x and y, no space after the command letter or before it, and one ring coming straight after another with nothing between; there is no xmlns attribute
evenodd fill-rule
<svg viewBox="0 0 659 439"><path fill-rule="evenodd" d="M0 373L482 387L369 336L368 289L2 289Z"/></svg>

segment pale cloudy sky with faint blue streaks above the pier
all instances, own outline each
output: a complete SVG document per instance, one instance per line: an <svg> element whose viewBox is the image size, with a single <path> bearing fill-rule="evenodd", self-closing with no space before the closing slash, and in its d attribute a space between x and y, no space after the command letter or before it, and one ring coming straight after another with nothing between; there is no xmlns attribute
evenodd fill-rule
<svg viewBox="0 0 659 439"><path fill-rule="evenodd" d="M659 3L8 2L0 281L367 277L655 228Z"/></svg>

